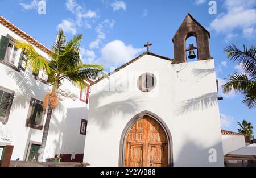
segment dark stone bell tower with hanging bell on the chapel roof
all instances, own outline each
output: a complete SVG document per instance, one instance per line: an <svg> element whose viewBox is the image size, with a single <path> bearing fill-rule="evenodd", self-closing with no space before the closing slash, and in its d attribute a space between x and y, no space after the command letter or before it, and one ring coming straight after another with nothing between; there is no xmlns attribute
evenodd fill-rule
<svg viewBox="0 0 256 178"><path fill-rule="evenodd" d="M197 44L186 44L187 39L192 36L196 38ZM196 57L197 60L212 59L210 56L209 38L209 31L201 26L190 14L187 14L172 38L174 43L173 63L184 63ZM197 50L197 54L194 52L195 50ZM187 57L188 51L189 56Z"/></svg>

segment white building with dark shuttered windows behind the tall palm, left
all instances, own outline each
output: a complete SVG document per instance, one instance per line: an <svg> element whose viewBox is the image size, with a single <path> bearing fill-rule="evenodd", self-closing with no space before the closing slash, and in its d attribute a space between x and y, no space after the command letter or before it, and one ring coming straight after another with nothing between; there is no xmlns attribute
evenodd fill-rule
<svg viewBox="0 0 256 178"><path fill-rule="evenodd" d="M24 69L22 51L13 44L15 40L28 42L46 59L49 49L2 16L0 36L0 159L5 146L13 145L11 160L35 160L46 121L42 101L49 84L43 71L35 77ZM64 162L82 162L88 97L89 90L81 92L64 81L59 90L61 101L51 118L44 159L62 154Z"/></svg>

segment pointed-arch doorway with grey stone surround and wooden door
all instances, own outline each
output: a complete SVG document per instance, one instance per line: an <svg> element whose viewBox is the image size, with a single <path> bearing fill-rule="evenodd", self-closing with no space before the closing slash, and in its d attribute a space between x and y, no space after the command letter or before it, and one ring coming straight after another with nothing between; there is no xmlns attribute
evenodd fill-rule
<svg viewBox="0 0 256 178"><path fill-rule="evenodd" d="M172 140L157 115L143 111L127 123L121 136L119 166L172 166Z"/></svg>

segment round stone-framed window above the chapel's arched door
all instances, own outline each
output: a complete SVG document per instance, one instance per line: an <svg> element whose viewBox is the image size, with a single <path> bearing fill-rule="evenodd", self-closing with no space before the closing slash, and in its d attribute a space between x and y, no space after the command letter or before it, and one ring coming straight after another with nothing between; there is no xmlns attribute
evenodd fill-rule
<svg viewBox="0 0 256 178"><path fill-rule="evenodd" d="M155 88L156 78L152 73L143 73L139 76L137 86L142 92L150 92Z"/></svg>

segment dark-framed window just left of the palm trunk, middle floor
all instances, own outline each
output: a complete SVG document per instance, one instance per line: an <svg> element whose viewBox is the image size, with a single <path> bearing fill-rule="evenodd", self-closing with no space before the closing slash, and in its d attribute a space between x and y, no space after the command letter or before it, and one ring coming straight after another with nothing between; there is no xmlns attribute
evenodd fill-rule
<svg viewBox="0 0 256 178"><path fill-rule="evenodd" d="M30 109L28 109L28 117L26 122L26 127L31 127L34 129L43 129L43 102L31 98Z"/></svg>

